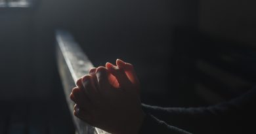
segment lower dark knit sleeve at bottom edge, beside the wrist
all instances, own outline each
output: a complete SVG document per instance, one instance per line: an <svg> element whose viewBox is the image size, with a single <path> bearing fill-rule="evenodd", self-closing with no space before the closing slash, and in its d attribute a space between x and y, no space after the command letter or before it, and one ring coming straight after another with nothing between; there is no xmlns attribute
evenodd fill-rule
<svg viewBox="0 0 256 134"><path fill-rule="evenodd" d="M151 114L146 114L142 126L140 127L139 134L149 133L168 133L168 134L189 134L188 132L177 127L169 126L165 122L158 120Z"/></svg>

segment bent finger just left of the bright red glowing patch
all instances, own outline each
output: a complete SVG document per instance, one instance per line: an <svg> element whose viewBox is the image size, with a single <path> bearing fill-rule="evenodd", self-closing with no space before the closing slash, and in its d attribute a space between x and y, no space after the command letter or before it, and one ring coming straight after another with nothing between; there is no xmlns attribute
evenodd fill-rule
<svg viewBox="0 0 256 134"><path fill-rule="evenodd" d="M110 73L105 67L98 67L96 69L96 76L98 79L99 90L108 89L111 87L111 84L108 80Z"/></svg>

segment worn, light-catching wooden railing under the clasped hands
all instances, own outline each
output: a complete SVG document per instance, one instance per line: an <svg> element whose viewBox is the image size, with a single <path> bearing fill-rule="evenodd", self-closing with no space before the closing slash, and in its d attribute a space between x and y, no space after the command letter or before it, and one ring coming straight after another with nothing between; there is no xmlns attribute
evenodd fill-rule
<svg viewBox="0 0 256 134"><path fill-rule="evenodd" d="M67 31L56 31L56 58L58 71L62 80L66 102L70 109L70 114L74 119L76 133L79 134L103 134L107 133L93 126L89 126L73 114L74 102L70 100L70 93L75 87L75 82L81 76L88 74L93 64L85 53L74 41L74 38Z"/></svg>

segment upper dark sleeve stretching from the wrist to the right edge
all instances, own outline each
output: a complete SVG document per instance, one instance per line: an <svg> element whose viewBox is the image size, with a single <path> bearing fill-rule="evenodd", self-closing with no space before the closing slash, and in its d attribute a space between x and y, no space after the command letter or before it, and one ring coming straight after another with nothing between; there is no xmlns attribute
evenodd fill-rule
<svg viewBox="0 0 256 134"><path fill-rule="evenodd" d="M245 133L255 131L256 89L244 95L210 107L163 108L142 105L144 112L158 120L192 133Z"/></svg>

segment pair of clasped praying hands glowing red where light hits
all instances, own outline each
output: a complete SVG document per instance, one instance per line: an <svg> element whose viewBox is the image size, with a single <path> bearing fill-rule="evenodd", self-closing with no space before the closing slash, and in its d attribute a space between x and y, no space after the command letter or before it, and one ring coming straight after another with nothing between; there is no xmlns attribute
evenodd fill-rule
<svg viewBox="0 0 256 134"><path fill-rule="evenodd" d="M70 99L77 118L110 133L139 132L145 114L133 65L117 59L116 65L91 69L76 84Z"/></svg>

